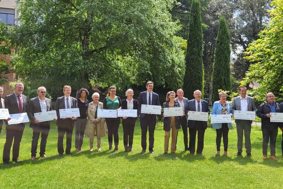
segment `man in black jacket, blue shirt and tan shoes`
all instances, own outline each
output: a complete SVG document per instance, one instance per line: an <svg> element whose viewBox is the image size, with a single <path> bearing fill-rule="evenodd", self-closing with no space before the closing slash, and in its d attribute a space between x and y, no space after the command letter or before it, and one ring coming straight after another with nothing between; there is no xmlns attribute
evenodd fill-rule
<svg viewBox="0 0 283 189"><path fill-rule="evenodd" d="M275 144L280 123L270 122L270 112L283 112L281 105L274 101L274 94L271 92L266 94L266 101L258 107L257 115L262 119L263 159L267 159L267 147L270 138L270 158L278 160L275 156Z"/></svg>

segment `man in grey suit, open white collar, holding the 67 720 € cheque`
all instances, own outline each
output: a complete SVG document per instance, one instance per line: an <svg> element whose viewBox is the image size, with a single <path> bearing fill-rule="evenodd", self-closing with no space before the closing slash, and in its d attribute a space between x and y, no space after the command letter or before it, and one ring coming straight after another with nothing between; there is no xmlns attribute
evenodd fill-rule
<svg viewBox="0 0 283 189"><path fill-rule="evenodd" d="M256 112L254 98L246 95L247 88L245 86L239 87L239 93L240 96L233 99L231 113L234 115L235 110ZM238 136L238 152L235 154L236 156L242 155L243 133L245 133L245 148L247 156L252 156L250 153L252 148L250 144L250 131L252 122L252 120L235 120Z"/></svg>

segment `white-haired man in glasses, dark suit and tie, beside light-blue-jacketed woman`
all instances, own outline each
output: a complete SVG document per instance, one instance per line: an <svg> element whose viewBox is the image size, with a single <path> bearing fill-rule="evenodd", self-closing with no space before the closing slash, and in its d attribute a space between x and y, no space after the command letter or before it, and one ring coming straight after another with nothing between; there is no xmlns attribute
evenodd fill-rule
<svg viewBox="0 0 283 189"><path fill-rule="evenodd" d="M210 110L208 108L208 102L201 99L201 92L196 90L193 94L195 99L188 101L188 106L185 108L185 113L188 115L188 111L195 112L207 112L208 115ZM195 151L197 154L202 154L204 149L204 132L207 129L207 121L195 121L188 120L189 128L189 150L191 154ZM196 149L196 132L197 134L197 149Z"/></svg>

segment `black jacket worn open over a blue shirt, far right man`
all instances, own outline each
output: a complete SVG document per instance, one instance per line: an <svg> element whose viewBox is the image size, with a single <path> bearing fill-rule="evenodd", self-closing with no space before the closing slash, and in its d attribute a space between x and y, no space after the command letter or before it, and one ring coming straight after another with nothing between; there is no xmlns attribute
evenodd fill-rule
<svg viewBox="0 0 283 189"><path fill-rule="evenodd" d="M275 104L275 112L282 113L282 107L279 103L274 102ZM266 114L271 112L271 108L267 104L267 101L260 104L258 107L257 115L258 117L262 118L262 127L269 128L269 127L281 127L280 122L270 122L270 118L266 116Z"/></svg>

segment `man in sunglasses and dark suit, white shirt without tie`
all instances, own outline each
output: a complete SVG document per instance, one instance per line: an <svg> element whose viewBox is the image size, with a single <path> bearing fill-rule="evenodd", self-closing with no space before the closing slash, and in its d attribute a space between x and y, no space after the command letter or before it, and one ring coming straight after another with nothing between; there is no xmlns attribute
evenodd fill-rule
<svg viewBox="0 0 283 189"><path fill-rule="evenodd" d="M46 88L39 87L37 89L37 94L38 94L37 97L29 100L29 108L28 108L28 116L30 119L29 127L33 128L33 140L31 142L31 160L36 159L37 143L40 133L41 133L41 142L40 142L39 155L40 157L44 157L44 158L47 157L45 155L45 147L50 129L50 121L39 122L34 117L34 113L47 112L52 110L51 100L49 98L45 98Z"/></svg>

